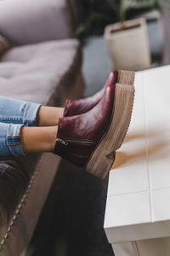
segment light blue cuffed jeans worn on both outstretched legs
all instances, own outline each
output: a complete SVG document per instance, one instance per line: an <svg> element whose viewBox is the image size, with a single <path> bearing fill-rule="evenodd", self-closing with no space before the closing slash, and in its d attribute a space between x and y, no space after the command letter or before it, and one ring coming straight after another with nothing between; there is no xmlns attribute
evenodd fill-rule
<svg viewBox="0 0 170 256"><path fill-rule="evenodd" d="M25 155L20 144L22 126L37 126L41 104L0 96L0 156Z"/></svg>

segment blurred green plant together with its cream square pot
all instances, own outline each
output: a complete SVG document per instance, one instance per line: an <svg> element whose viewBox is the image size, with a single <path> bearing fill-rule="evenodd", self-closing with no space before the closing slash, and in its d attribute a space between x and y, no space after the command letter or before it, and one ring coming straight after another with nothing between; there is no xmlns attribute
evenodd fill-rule
<svg viewBox="0 0 170 256"><path fill-rule="evenodd" d="M87 0L86 2L79 0L78 2L82 3L83 10L77 26L78 38L103 33L105 28L105 41L114 68L150 67L150 47L145 20L134 20L134 17L153 9L161 10L162 6L167 4L166 0ZM83 8L84 4L86 8ZM107 26L111 23L114 25Z"/></svg>

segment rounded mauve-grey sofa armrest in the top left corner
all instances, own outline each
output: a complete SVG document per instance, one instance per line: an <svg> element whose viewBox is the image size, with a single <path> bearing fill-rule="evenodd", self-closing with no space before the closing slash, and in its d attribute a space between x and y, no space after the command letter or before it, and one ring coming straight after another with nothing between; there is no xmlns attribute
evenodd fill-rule
<svg viewBox="0 0 170 256"><path fill-rule="evenodd" d="M71 38L74 20L69 3L70 0L0 1L0 33L14 44Z"/></svg>

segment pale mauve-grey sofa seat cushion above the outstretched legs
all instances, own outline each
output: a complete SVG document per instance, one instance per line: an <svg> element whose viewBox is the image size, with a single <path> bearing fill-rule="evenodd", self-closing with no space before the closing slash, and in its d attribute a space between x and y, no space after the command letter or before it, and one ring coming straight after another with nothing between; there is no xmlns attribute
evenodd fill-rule
<svg viewBox="0 0 170 256"><path fill-rule="evenodd" d="M49 100L51 96L59 98L59 93L55 92L65 74L68 76L79 68L78 57L80 52L76 39L14 47L0 59L0 94L53 104ZM67 83L70 84L69 81Z"/></svg>

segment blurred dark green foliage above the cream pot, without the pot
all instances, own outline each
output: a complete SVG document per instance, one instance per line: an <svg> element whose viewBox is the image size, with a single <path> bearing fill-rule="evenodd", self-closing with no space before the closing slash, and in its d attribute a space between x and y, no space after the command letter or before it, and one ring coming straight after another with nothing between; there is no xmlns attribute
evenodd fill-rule
<svg viewBox="0 0 170 256"><path fill-rule="evenodd" d="M77 0L77 37L102 34L106 25L131 20L153 9L161 10L167 0Z"/></svg>

